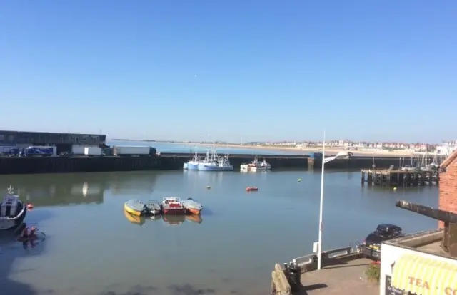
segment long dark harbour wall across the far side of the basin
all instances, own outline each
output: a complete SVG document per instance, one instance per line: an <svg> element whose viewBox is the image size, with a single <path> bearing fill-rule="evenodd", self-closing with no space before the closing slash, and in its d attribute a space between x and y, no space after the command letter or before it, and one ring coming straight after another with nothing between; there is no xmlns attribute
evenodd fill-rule
<svg viewBox="0 0 457 295"><path fill-rule="evenodd" d="M156 157L0 157L0 174L113 172L140 170L181 170L193 154L164 153ZM320 169L322 160L304 155L258 155L276 169ZM231 155L230 162L239 171L242 163L251 162L253 155ZM431 160L430 160L431 161ZM398 167L400 157L351 157L326 163L326 169L353 170Z"/></svg>

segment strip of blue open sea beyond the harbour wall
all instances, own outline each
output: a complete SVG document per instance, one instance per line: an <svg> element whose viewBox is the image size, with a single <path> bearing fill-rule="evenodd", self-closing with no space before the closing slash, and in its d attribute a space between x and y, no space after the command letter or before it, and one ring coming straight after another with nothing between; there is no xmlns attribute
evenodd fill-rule
<svg viewBox="0 0 457 295"><path fill-rule="evenodd" d="M108 145L151 145L158 152L206 152L208 148L210 148L210 152L212 150L212 146L204 146L204 145L186 145L186 144L178 144L178 143L150 143L144 141L111 141L106 143ZM216 152L221 155L225 154L246 154L246 155L309 155L309 151L301 151L301 150L268 150L268 149L253 149L253 148L222 148L216 147Z"/></svg>

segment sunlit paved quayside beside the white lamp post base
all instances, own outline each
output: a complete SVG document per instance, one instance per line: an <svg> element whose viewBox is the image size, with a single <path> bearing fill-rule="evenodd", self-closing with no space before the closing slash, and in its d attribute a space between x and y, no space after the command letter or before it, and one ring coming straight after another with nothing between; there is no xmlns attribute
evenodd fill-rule
<svg viewBox="0 0 457 295"><path fill-rule="evenodd" d="M379 284L365 279L365 270L371 260L355 259L323 267L320 271L301 274L301 292L298 294L378 295Z"/></svg>

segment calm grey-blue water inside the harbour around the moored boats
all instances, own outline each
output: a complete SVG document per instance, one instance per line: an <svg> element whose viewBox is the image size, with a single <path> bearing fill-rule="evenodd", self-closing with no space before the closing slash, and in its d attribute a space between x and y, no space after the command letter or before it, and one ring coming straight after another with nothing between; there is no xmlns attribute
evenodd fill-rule
<svg viewBox="0 0 457 295"><path fill-rule="evenodd" d="M269 294L273 264L311 253L318 237L314 172L0 177L1 191L9 185L35 205L26 222L47 239L33 249L1 239L1 294ZM394 207L397 199L436 206L436 187L373 189L361 187L360 172L328 171L325 189L324 249L360 241L381 222L406 232L437 226ZM199 200L201 223L140 226L124 216L126 200L166 196Z"/></svg>

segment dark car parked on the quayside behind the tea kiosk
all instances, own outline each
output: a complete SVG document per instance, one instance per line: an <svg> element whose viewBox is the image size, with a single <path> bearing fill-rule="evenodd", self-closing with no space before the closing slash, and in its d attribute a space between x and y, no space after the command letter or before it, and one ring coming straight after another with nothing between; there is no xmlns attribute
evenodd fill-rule
<svg viewBox="0 0 457 295"><path fill-rule="evenodd" d="M394 224L379 224L376 230L366 237L361 247L362 254L366 258L379 260L381 259L381 242L403 235L401 227Z"/></svg>

